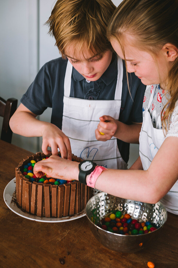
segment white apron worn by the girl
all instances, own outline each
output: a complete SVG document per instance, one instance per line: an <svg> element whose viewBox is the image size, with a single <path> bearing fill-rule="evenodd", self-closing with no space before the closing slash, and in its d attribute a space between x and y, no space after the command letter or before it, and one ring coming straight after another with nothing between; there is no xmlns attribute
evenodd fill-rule
<svg viewBox="0 0 178 268"><path fill-rule="evenodd" d="M155 88L156 85L153 87L148 107L145 110L145 117L139 137L139 153L144 170L147 170L149 168L154 156L165 140L162 129L156 129L153 127L152 119L148 111L153 101ZM178 181L160 201L164 204L167 211L178 215Z"/></svg>

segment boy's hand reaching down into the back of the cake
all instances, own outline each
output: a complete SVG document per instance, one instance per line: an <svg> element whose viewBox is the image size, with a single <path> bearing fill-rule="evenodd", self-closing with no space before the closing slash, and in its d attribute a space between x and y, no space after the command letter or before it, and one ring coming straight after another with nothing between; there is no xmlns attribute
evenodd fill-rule
<svg viewBox="0 0 178 268"><path fill-rule="evenodd" d="M42 151L48 154L48 146L51 147L53 155L57 155L59 148L61 157L72 160L72 151L69 138L55 125L44 123L42 127Z"/></svg>

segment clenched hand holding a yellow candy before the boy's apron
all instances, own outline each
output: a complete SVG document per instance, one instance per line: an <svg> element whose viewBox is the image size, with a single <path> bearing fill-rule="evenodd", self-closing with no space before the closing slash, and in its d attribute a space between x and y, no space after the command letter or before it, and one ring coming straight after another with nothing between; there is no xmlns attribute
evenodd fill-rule
<svg viewBox="0 0 178 268"><path fill-rule="evenodd" d="M111 116L102 116L99 119L98 128L95 130L96 139L102 141L110 140L117 131L118 120Z"/></svg>

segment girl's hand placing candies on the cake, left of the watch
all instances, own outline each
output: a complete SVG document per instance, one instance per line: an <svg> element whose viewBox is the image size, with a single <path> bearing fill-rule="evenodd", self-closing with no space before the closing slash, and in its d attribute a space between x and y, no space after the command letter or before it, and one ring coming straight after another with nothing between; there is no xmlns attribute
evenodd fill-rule
<svg viewBox="0 0 178 268"><path fill-rule="evenodd" d="M33 172L37 178L41 178L46 173L48 178L78 180L79 163L51 155L49 158L35 163Z"/></svg>

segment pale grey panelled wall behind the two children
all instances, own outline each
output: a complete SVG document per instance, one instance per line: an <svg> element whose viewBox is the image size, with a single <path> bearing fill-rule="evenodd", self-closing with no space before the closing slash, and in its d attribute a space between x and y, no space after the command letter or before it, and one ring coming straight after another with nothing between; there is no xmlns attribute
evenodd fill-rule
<svg viewBox="0 0 178 268"><path fill-rule="evenodd" d="M58 58L55 39L48 35L44 23L51 15L54 0L6 0L0 8L0 96L21 96L33 82L38 70L51 59ZM122 0L113 0L118 6ZM38 117L50 122L51 108ZM2 118L0 117L0 131ZM30 126L29 126L30 128ZM13 134L12 144L26 150L41 151L42 138ZM139 146L131 144L128 166L137 159Z"/></svg>

